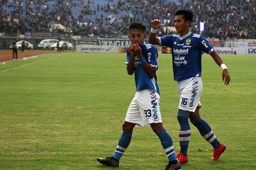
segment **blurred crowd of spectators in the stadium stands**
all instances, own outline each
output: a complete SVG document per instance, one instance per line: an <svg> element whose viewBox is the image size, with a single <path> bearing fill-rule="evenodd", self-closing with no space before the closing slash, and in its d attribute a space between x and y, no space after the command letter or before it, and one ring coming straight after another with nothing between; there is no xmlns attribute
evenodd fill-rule
<svg viewBox="0 0 256 170"><path fill-rule="evenodd" d="M66 33L89 37L127 37L128 25L139 21L150 32L150 21L162 20L172 27L178 8L194 12L190 30L200 33L197 22L204 22L205 37L256 38L255 0L1 0L0 32L60 32L53 23L60 23ZM167 27L158 36L173 34ZM165 29L163 29L165 28ZM174 33L175 34L175 33Z"/></svg>

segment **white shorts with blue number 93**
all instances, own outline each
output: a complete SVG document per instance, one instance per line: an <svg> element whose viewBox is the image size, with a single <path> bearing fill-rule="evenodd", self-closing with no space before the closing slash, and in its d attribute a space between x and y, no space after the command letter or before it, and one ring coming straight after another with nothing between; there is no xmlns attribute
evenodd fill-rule
<svg viewBox="0 0 256 170"><path fill-rule="evenodd" d="M162 123L160 96L154 89L138 90L131 101L125 121L145 126L150 123Z"/></svg>

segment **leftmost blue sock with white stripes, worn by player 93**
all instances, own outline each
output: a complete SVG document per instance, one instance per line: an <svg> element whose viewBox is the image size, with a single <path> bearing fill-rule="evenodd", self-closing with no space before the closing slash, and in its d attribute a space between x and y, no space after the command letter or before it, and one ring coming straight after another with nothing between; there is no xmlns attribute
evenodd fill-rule
<svg viewBox="0 0 256 170"><path fill-rule="evenodd" d="M113 158L119 160L131 142L132 132L123 131L120 137Z"/></svg>

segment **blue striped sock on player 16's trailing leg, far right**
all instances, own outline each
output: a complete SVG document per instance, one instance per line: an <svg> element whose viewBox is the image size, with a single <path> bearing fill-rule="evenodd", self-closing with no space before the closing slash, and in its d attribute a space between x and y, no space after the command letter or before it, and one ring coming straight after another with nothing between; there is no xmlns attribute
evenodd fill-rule
<svg viewBox="0 0 256 170"><path fill-rule="evenodd" d="M202 137L205 140L207 140L213 146L213 148L217 149L217 148L221 147L219 145L219 141L213 134L210 125L207 122L205 122L203 119L201 119L200 116L196 119L190 120L190 122L197 127L197 129L200 132L200 134L202 135Z"/></svg>

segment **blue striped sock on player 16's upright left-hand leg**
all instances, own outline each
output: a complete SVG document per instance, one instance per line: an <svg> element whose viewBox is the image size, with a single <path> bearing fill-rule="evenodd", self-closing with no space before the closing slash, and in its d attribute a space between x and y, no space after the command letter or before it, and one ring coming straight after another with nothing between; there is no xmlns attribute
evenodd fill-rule
<svg viewBox="0 0 256 170"><path fill-rule="evenodd" d="M190 140L190 126L188 123L189 114L182 110L178 111L177 119L180 123L179 140L181 153L187 156L188 143Z"/></svg>

